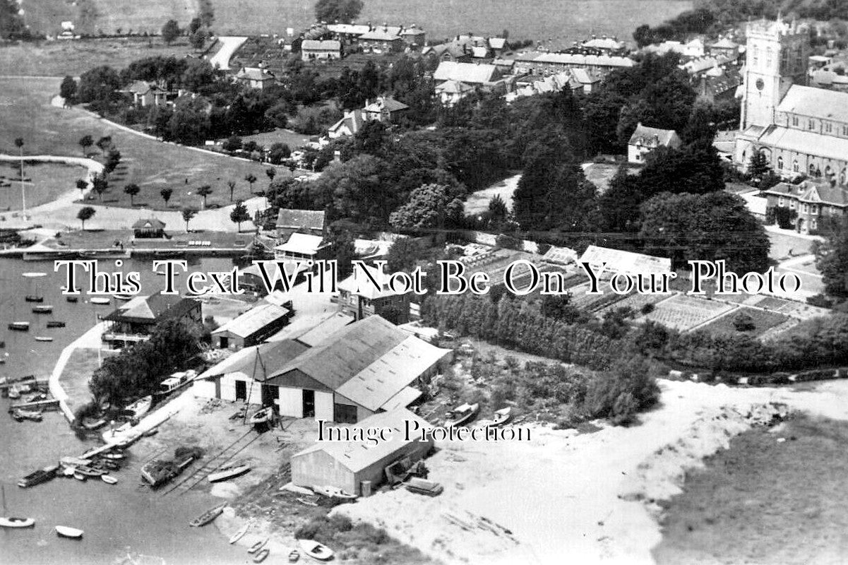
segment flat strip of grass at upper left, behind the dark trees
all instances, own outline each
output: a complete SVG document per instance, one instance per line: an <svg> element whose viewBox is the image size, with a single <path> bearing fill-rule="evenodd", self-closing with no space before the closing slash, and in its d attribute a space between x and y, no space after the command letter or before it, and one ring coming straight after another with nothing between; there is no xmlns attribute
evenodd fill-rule
<svg viewBox="0 0 848 565"><path fill-rule="evenodd" d="M182 58L189 53L194 50L185 40L169 46L159 37L23 43L0 47L0 75L80 76L101 64L123 69L131 61L144 57Z"/></svg>

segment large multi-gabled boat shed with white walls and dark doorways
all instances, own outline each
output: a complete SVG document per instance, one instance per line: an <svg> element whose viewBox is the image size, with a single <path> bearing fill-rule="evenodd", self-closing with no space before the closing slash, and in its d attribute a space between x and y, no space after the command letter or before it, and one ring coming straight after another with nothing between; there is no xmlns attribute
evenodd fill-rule
<svg viewBox="0 0 848 565"><path fill-rule="evenodd" d="M304 333L312 346L298 338L237 351L198 377L196 394L276 406L281 416L360 422L409 406L452 357L380 316L330 320L339 328L326 338L315 328Z"/></svg>

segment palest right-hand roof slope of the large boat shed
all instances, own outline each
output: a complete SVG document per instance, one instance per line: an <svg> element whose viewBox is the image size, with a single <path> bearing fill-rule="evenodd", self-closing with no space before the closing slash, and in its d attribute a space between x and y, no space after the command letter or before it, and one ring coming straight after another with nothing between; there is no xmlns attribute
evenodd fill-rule
<svg viewBox="0 0 848 565"><path fill-rule="evenodd" d="M414 383L449 350L411 336L354 375L336 392L368 410L377 411L389 399Z"/></svg>

